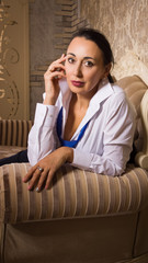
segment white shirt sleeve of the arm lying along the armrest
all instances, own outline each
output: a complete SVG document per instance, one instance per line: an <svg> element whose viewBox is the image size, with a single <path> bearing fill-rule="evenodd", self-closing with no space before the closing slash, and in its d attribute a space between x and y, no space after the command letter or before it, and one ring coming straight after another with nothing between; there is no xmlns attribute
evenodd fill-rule
<svg viewBox="0 0 148 263"><path fill-rule="evenodd" d="M136 114L126 100L115 100L111 105L103 132L103 153L100 156L76 148L73 167L107 175L124 172L133 149ZM93 139L96 141L92 135Z"/></svg>

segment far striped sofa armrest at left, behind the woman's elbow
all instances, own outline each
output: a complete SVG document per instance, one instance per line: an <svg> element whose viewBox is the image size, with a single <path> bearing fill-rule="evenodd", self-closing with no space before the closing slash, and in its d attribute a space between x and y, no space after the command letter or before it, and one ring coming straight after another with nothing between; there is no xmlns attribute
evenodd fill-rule
<svg viewBox="0 0 148 263"><path fill-rule="evenodd" d="M0 145L26 147L32 125L32 121L0 119Z"/></svg>

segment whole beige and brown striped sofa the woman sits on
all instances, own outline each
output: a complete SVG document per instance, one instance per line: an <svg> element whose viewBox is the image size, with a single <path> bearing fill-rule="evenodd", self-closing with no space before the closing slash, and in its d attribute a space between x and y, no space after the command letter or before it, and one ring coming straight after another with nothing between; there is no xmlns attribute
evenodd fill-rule
<svg viewBox="0 0 148 263"><path fill-rule="evenodd" d="M0 263L148 262L148 88L118 81L137 111L136 163L122 176L64 165L29 192L29 163L0 167ZM0 121L0 158L26 147L31 121Z"/></svg>

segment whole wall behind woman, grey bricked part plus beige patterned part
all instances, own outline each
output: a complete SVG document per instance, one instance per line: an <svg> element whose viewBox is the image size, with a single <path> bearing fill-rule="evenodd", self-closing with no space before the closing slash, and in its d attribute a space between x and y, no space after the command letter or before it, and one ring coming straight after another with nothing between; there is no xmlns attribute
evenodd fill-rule
<svg viewBox="0 0 148 263"><path fill-rule="evenodd" d="M133 60L132 66L135 60L137 62L140 59L148 67L148 0L32 0L31 2L32 119L36 102L42 101L44 92L43 73L47 67L45 64L62 54L67 35L69 37L69 33L77 27L91 25L102 31L111 43L115 61L118 62L126 55L124 70L127 59ZM77 11L78 3L80 3L80 13ZM58 36L55 37L55 34ZM59 49L56 46L59 46ZM132 66L128 65L128 68ZM119 69L117 77L121 77L122 71L123 68ZM144 71L143 67L140 71ZM148 76L147 70L146 75Z"/></svg>

